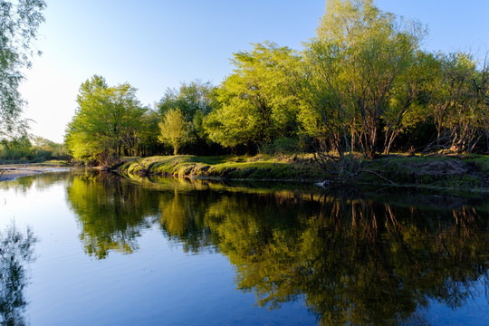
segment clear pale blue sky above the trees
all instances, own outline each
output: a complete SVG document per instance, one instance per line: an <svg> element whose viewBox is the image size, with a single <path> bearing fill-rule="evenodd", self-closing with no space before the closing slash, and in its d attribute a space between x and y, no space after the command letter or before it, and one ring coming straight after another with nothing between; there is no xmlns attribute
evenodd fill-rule
<svg viewBox="0 0 489 326"><path fill-rule="evenodd" d="M93 74L129 82L143 104L199 79L219 84L233 53L273 41L301 49L324 14L324 0L47 0L33 68L22 86L31 132L62 142L80 84ZM429 51L489 51L489 0L377 0L416 18Z"/></svg>

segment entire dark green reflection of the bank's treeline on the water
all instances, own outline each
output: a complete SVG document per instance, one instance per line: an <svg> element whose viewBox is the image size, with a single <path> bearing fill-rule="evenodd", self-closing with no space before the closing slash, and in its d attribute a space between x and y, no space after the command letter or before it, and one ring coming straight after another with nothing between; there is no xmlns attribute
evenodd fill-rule
<svg viewBox="0 0 489 326"><path fill-rule="evenodd" d="M303 300L328 325L425 324L431 302L456 310L477 284L489 292L484 201L414 196L101 174L68 187L87 254L129 254L158 224L186 252L225 254L260 306Z"/></svg>

